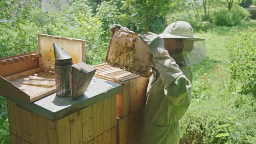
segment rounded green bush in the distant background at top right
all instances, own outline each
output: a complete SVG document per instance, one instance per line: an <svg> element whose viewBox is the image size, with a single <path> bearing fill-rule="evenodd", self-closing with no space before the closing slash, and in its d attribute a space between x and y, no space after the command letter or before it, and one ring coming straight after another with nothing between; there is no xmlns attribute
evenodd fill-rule
<svg viewBox="0 0 256 144"><path fill-rule="evenodd" d="M220 8L214 13L212 21L216 26L236 26L242 20L249 20L249 12L240 6L234 7L231 11Z"/></svg>

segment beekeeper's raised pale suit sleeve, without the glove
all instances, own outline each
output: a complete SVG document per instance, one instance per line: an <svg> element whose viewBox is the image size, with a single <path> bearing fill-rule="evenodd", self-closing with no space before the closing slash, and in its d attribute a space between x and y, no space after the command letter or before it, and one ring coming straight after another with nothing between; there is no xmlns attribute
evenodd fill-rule
<svg viewBox="0 0 256 144"><path fill-rule="evenodd" d="M191 83L187 76L179 69L178 64L174 61L168 52L159 47L153 52L153 59L160 73L160 79L165 85L164 93L174 105L180 105L188 97Z"/></svg>

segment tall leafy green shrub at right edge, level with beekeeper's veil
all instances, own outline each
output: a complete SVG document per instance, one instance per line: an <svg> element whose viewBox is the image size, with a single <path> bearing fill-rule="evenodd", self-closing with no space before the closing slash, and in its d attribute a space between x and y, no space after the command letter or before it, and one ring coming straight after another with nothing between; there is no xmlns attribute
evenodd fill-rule
<svg viewBox="0 0 256 144"><path fill-rule="evenodd" d="M256 28L237 33L229 47L231 88L256 95Z"/></svg>

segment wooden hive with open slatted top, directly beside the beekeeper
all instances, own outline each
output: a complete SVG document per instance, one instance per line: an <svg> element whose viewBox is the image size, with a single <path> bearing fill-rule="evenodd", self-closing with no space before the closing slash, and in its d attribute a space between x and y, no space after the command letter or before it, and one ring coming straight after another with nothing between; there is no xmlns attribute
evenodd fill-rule
<svg viewBox="0 0 256 144"><path fill-rule="evenodd" d="M148 77L141 77L108 64L94 67L97 68L95 76L122 85L122 92L117 94L118 142L141 143Z"/></svg>

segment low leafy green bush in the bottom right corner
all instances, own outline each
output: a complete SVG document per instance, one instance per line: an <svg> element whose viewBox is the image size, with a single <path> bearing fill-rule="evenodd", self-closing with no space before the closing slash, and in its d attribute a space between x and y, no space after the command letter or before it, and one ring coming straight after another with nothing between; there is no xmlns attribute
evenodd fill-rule
<svg viewBox="0 0 256 144"><path fill-rule="evenodd" d="M225 98L192 103L181 120L180 143L255 142L255 98L225 94Z"/></svg>

